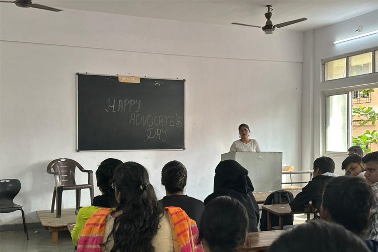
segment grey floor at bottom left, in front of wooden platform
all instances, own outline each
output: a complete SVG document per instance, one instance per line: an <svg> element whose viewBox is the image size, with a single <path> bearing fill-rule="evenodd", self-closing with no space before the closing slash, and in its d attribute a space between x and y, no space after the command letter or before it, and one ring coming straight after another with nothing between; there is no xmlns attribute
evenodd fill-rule
<svg viewBox="0 0 378 252"><path fill-rule="evenodd" d="M34 233L34 231L38 233ZM0 251L6 252L50 252L74 251L71 235L68 231L60 231L58 245L51 245L51 233L43 228L28 230L29 240L24 230L0 232Z"/></svg>

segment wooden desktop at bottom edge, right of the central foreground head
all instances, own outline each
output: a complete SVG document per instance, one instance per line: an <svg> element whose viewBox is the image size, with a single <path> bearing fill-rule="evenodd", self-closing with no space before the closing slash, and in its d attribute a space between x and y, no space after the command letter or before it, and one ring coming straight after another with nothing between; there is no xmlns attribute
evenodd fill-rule
<svg viewBox="0 0 378 252"><path fill-rule="evenodd" d="M275 230L248 233L244 245L237 251L264 251L284 232L284 230Z"/></svg>

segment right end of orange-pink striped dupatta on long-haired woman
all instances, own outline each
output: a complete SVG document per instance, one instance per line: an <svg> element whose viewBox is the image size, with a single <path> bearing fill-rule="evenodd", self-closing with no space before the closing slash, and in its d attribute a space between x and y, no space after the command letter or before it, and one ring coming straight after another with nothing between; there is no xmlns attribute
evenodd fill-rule
<svg viewBox="0 0 378 252"><path fill-rule="evenodd" d="M166 207L172 229L174 252L204 252L202 243L197 244L198 228L194 220L179 207Z"/></svg>

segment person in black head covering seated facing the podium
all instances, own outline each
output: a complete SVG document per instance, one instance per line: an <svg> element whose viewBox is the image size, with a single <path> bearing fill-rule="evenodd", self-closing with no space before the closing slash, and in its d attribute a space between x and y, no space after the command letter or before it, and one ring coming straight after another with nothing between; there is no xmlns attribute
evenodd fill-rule
<svg viewBox="0 0 378 252"><path fill-rule="evenodd" d="M258 232L260 213L253 191L254 186L248 177L248 170L235 160L224 160L215 168L214 193L209 195L204 203L206 206L219 196L229 196L238 200L248 213L248 232Z"/></svg>

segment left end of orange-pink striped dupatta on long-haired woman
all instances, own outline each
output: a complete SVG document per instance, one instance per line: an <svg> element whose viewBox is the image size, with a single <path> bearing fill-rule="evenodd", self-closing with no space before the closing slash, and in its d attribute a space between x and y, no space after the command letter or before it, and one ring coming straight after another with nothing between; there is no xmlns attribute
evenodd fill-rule
<svg viewBox="0 0 378 252"><path fill-rule="evenodd" d="M101 252L100 244L105 233L106 217L113 210L103 208L94 213L85 223L78 241L77 252Z"/></svg>

